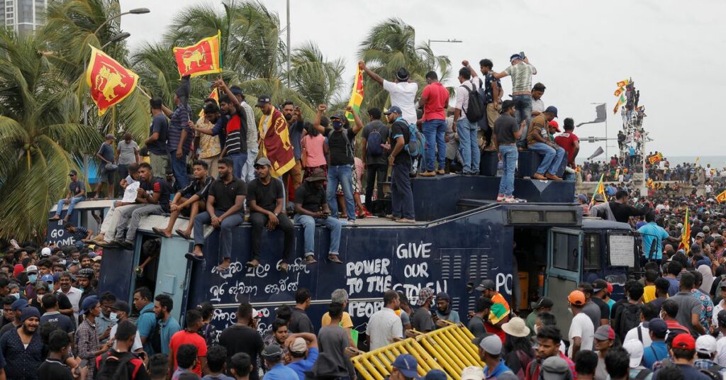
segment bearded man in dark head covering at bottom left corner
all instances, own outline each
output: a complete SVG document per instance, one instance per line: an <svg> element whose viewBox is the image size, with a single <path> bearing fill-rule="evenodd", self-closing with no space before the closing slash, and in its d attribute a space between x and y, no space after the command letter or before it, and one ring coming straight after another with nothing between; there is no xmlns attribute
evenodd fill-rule
<svg viewBox="0 0 726 380"><path fill-rule="evenodd" d="M0 337L7 379L34 379L32 373L36 373L44 361L45 347L38 333L40 317L41 313L35 307L25 307L20 314L20 328Z"/></svg>

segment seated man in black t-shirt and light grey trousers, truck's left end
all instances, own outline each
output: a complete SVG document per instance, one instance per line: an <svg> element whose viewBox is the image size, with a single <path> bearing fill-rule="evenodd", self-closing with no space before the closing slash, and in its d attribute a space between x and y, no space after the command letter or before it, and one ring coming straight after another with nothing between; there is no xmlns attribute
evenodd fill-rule
<svg viewBox="0 0 726 380"><path fill-rule="evenodd" d="M168 183L159 177L154 177L151 165L142 162L139 163L139 177L141 185L139 185L139 193L136 195L136 203L143 205L137 208L121 207L116 209L119 213L118 227L116 227L115 240L111 243L102 245L103 247L118 246L124 249L134 248L136 243L136 230L139 228L141 219L148 215L159 215L169 212L169 196L171 190ZM124 239L123 230L126 223L129 222L129 230L126 231L126 239Z"/></svg>

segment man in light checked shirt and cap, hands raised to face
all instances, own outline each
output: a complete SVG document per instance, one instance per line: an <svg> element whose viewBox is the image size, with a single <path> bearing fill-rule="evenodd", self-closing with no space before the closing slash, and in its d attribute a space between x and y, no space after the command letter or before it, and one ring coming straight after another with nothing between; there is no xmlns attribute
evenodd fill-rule
<svg viewBox="0 0 726 380"><path fill-rule="evenodd" d="M517 113L517 125L522 121L526 121L522 129L522 138L518 145L525 147L527 136L527 128L529 127L532 117L532 76L537 74L537 68L529 64L529 58L524 57L523 53L512 54L509 58L511 65L501 73L494 73L494 78L501 79L505 76L512 76L512 100L515 102Z"/></svg>

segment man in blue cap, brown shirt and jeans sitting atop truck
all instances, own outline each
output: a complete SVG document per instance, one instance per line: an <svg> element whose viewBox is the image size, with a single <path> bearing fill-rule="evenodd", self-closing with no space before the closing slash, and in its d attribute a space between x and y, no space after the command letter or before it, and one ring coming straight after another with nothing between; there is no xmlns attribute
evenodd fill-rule
<svg viewBox="0 0 726 380"><path fill-rule="evenodd" d="M565 150L550 140L547 126L550 121L557 117L557 108L550 105L543 113L535 116L527 132L527 149L544 155L542 163L539 164L537 172L532 175L533 179L552 179L561 181L557 176L562 160L565 159Z"/></svg>

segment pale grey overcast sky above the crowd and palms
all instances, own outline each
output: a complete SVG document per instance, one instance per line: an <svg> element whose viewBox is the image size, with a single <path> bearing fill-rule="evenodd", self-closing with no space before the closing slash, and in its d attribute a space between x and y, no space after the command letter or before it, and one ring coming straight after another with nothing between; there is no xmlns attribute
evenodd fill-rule
<svg viewBox="0 0 726 380"><path fill-rule="evenodd" d="M171 17L203 0L120 0L123 11L148 7L149 15L127 15L122 28L131 33L131 47L154 41ZM264 0L280 15L285 0ZM489 58L494 70L506 68L509 56L524 51L539 73L534 81L547 86L545 105L559 109L559 121L595 118L591 102L608 104L608 136L621 128L613 116L616 82L632 77L648 117L645 129L654 140L647 150L665 155L724 155L711 137L723 135L718 113L719 92L726 87L722 68L726 33L722 17L726 1L671 0L291 0L293 48L315 41L327 57L343 57L354 76L359 43L372 25L401 17L416 30L416 41L459 39L460 44L432 43L436 54L448 55L454 69L464 59ZM285 36L283 35L283 38ZM171 52L169 52L171 54ZM455 72L454 70L454 72ZM709 74L711 73L711 74ZM447 85L458 84L449 78ZM510 78L502 79L510 94ZM695 107L698 105L698 107ZM582 140L603 137L605 124L576 129ZM614 154L616 142L608 149ZM581 145L590 155L604 143Z"/></svg>

